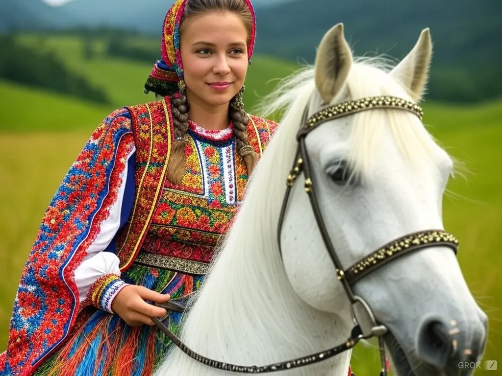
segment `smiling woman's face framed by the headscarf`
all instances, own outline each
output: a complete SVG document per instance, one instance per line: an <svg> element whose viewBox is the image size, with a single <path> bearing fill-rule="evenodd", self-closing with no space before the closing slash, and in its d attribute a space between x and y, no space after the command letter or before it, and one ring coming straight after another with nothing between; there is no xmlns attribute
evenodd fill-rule
<svg viewBox="0 0 502 376"><path fill-rule="evenodd" d="M187 19L180 35L183 75L189 103L227 105L247 72L247 31L230 12Z"/></svg>

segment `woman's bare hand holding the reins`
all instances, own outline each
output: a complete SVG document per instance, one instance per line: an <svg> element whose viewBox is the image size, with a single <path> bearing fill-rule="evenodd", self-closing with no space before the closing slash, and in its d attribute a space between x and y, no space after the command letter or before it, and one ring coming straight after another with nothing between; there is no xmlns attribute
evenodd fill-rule
<svg viewBox="0 0 502 376"><path fill-rule="evenodd" d="M170 298L168 294L160 294L143 286L129 285L123 287L115 295L111 302L111 309L130 326L154 325L151 317L163 317L167 311L145 300L165 303Z"/></svg>

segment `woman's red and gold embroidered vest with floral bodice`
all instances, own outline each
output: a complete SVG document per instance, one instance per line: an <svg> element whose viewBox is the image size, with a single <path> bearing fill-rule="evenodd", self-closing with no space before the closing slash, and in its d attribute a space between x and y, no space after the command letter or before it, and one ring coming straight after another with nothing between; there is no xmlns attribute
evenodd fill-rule
<svg viewBox="0 0 502 376"><path fill-rule="evenodd" d="M213 132L191 124L185 136L186 173L175 185L166 180L174 139L169 98L129 110L137 146L136 193L116 245L120 268L127 270L136 262L205 274L247 182L232 128L215 138ZM260 158L277 124L248 116L248 143Z"/></svg>

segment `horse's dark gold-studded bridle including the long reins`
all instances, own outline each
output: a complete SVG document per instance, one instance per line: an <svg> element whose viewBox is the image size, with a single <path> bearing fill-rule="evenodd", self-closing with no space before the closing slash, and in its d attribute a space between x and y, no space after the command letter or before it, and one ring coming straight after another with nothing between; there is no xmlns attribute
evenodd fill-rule
<svg viewBox="0 0 502 376"><path fill-rule="evenodd" d="M383 336L388 332L389 329L387 328L387 326L376 321L373 312L369 308L369 305L361 297L357 296L352 291L353 285L361 278L374 272L376 269L412 251L418 251L420 249L434 245L434 246L447 246L451 248L453 252L455 252L456 254L458 250L458 240L453 235L444 230L426 230L417 233L412 233L388 243L387 245L372 252L369 256L366 256L362 260L354 263L347 269L343 268L342 263L340 262L336 254L333 243L329 238L329 234L324 224L321 210L317 202L314 188L315 185L312 176L312 169L310 167L307 148L305 145L305 138L310 131L312 131L313 129L315 129L316 127L327 121L348 116L360 111L365 111L369 109L378 109L378 108L393 108L393 109L405 110L417 115L421 120L423 117L423 111L417 104L401 98L396 98L391 96L369 97L354 101L346 101L340 104L326 107L316 112L309 118L307 118L308 106L306 106L302 117L302 123L301 123L302 127L297 133L298 148L295 155L295 161L290 171L290 174L288 175L286 194L284 196L283 205L279 216L277 237L279 243L279 251L282 257L281 231L288 205L288 199L293 184L295 183L297 177L303 172L305 177L305 182L304 182L305 192L309 196L310 204L312 206L312 211L314 213L317 226L319 228L319 231L321 232L321 236L324 241L326 250L335 266L337 278L341 282L345 290L345 293L351 303L351 312L354 321L354 327L352 328L350 336L347 338L347 340L344 343L341 343L327 350L280 363L268 364L263 366L235 365L213 360L196 353L195 351L187 347L158 318L156 317L152 318L154 323L183 352L185 352L193 359L213 368L228 370L232 372L240 372L240 373L265 373L265 372L274 372L274 371L292 369L305 366L308 364L317 363L353 348L355 344L358 343L361 339L378 337L380 358L382 362L382 371L380 373L380 376L387 376ZM171 301L160 306L163 306L168 310L173 310L178 312L181 312L184 309L184 306L182 304Z"/></svg>

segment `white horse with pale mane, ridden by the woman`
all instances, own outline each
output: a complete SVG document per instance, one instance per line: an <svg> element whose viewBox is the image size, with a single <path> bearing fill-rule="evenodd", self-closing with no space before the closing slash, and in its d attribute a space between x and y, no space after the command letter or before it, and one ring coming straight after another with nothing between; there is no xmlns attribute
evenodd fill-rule
<svg viewBox="0 0 502 376"><path fill-rule="evenodd" d="M328 104L373 96L420 101L431 45L426 29L405 59L384 69L354 60L339 24L322 39L315 67L266 98L265 112L287 111L186 313L180 336L188 347L223 362L262 365L346 341L353 327L350 301L299 178L284 215L281 258L277 229L296 134L305 109L310 116ZM443 229L441 202L453 162L417 114L393 108L354 113L324 122L305 142L322 219L345 268L393 239ZM357 281L352 291L389 329L384 339L397 374L467 375L471 370L458 363L481 358L487 317L450 248L408 253ZM278 373L346 376L349 360L350 350ZM231 373L173 346L157 374Z"/></svg>

